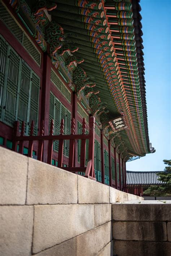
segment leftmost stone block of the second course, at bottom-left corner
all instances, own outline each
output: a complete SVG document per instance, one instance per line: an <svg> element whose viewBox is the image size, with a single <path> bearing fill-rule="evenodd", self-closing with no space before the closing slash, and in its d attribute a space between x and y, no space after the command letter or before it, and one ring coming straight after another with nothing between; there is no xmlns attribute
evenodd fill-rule
<svg viewBox="0 0 171 256"><path fill-rule="evenodd" d="M33 212L33 206L0 206L0 255L31 255Z"/></svg>

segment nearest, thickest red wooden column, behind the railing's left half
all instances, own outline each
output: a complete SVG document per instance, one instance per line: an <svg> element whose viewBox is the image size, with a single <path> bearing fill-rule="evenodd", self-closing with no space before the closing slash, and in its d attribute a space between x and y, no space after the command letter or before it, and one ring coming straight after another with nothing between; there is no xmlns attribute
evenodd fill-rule
<svg viewBox="0 0 171 256"><path fill-rule="evenodd" d="M50 107L50 86L51 86L51 59L44 53L43 56L43 80L41 95L41 120L44 120L44 135L49 132L49 107ZM47 162L48 141L44 141L43 162Z"/></svg>

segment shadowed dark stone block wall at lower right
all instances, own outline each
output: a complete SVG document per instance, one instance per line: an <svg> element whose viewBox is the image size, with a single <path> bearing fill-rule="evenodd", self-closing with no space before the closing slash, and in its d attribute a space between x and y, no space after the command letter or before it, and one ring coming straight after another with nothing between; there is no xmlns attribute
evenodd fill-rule
<svg viewBox="0 0 171 256"><path fill-rule="evenodd" d="M112 220L114 255L171 255L171 202L115 203Z"/></svg>

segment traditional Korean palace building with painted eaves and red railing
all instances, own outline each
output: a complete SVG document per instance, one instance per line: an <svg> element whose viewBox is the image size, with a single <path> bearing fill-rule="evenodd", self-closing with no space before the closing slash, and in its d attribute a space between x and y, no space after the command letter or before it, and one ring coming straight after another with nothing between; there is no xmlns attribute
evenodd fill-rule
<svg viewBox="0 0 171 256"><path fill-rule="evenodd" d="M140 10L139 0L0 1L1 146L125 190L126 161L154 152Z"/></svg>

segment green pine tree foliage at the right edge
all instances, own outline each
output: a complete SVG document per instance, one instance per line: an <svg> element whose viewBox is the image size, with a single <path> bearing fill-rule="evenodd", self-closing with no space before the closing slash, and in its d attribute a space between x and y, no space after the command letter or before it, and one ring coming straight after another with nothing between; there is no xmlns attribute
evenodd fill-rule
<svg viewBox="0 0 171 256"><path fill-rule="evenodd" d="M145 195L171 196L171 160L163 160L163 162L167 165L164 172L157 173L158 180L163 184L150 186L144 191Z"/></svg>

